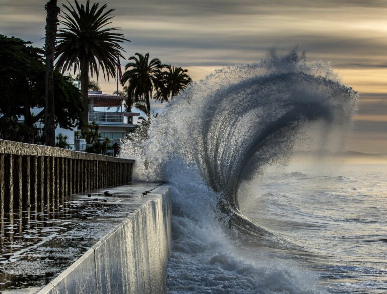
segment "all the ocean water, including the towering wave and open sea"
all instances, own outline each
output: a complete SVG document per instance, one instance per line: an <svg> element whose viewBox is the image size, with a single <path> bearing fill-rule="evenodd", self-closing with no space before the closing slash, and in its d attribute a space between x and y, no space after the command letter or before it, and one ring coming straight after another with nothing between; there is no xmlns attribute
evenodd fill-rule
<svg viewBox="0 0 387 294"><path fill-rule="evenodd" d="M387 291L385 167L289 163L342 150L356 100L329 65L271 52L192 84L148 139L123 142L135 177L171 188L168 293Z"/></svg>

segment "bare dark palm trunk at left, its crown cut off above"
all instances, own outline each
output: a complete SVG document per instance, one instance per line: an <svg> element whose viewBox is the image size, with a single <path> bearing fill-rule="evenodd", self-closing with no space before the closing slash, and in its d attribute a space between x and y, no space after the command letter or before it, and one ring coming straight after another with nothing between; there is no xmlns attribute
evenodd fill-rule
<svg viewBox="0 0 387 294"><path fill-rule="evenodd" d="M54 55L56 46L56 31L58 28L57 0L47 2L45 9L46 18L46 107L45 131L46 145L55 146L55 97L54 97Z"/></svg>

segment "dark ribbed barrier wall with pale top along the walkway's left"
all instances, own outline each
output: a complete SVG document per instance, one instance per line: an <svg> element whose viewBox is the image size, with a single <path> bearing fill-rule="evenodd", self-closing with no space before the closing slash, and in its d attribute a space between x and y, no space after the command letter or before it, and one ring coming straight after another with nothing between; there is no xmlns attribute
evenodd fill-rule
<svg viewBox="0 0 387 294"><path fill-rule="evenodd" d="M132 180L134 161L63 148L0 140L0 220L5 213L44 205L63 197Z"/></svg>

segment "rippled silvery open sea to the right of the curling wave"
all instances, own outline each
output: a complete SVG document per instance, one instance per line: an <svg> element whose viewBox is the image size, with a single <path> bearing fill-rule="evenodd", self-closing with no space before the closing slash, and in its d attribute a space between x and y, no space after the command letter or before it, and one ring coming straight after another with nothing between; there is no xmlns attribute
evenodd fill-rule
<svg viewBox="0 0 387 294"><path fill-rule="evenodd" d="M291 164L243 183L255 223L305 250L290 259L329 293L387 292L387 164Z"/></svg>

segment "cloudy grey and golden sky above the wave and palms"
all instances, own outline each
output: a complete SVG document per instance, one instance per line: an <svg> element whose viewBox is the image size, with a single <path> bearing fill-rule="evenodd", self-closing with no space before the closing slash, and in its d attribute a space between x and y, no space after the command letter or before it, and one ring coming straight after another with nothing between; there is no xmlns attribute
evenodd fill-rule
<svg viewBox="0 0 387 294"><path fill-rule="evenodd" d="M45 3L0 0L0 33L42 46ZM126 56L150 52L188 68L195 80L224 65L259 61L273 47L289 51L298 45L308 60L331 62L360 93L347 149L387 153L387 0L100 3L116 9L114 25L132 41L124 45ZM114 82L100 83L104 92L115 89Z"/></svg>

